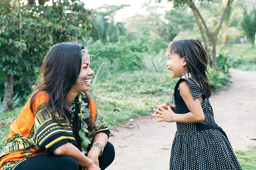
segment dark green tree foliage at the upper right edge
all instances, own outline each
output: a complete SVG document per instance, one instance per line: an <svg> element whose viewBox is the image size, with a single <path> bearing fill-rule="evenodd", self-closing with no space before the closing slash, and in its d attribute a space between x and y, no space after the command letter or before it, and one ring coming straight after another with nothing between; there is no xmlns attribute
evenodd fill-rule
<svg viewBox="0 0 256 170"><path fill-rule="evenodd" d="M253 44L256 34L256 7L253 8L250 14L244 10L244 19L241 22L241 28Z"/></svg>

